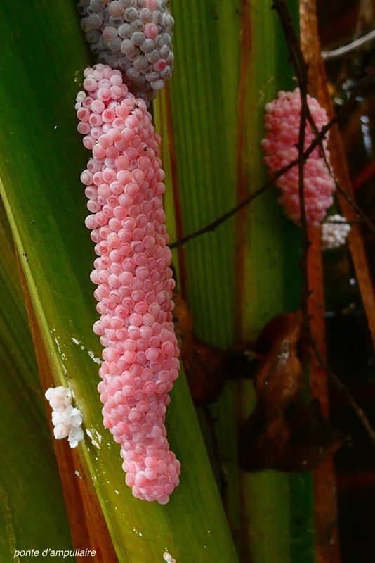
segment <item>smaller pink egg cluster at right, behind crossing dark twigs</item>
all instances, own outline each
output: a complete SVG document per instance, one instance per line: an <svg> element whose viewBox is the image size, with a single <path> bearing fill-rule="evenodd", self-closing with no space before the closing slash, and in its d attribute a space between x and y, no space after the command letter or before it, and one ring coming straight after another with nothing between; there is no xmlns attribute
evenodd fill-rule
<svg viewBox="0 0 375 563"><path fill-rule="evenodd" d="M327 124L327 113L315 98L308 96L308 107L313 116L317 130L320 131ZM265 163L272 174L292 160L298 158L298 131L301 113L301 96L299 89L293 92L280 91L278 98L265 106L265 129L267 134L262 141L265 151ZM305 130L305 149L310 146L315 134L307 125ZM324 151L329 161L327 151L327 139L323 141ZM305 210L306 219L309 224L319 224L326 215L327 208L332 203L332 192L335 189L334 179L320 156L320 148L317 147L305 162ZM294 166L284 175L279 177L276 185L281 189L282 196L279 203L284 207L284 213L298 224L301 213L298 196L298 167Z"/></svg>

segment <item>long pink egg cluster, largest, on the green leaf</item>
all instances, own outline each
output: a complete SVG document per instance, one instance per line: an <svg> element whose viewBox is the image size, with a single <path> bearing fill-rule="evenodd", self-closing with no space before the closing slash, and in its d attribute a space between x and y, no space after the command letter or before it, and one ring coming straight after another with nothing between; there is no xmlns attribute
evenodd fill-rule
<svg viewBox="0 0 375 563"><path fill-rule="evenodd" d="M105 346L98 385L104 425L121 444L133 495L165 504L180 474L164 426L179 362L160 137L119 70L99 64L84 76L77 117L93 153L81 182L98 255L91 280L100 313L93 330Z"/></svg>

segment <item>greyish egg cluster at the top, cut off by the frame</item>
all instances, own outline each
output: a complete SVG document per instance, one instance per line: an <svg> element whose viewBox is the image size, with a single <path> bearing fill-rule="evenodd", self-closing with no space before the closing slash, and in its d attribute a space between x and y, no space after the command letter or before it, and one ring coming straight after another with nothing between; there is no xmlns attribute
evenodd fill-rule
<svg viewBox="0 0 375 563"><path fill-rule="evenodd" d="M98 62L121 70L136 97L154 99L171 77L168 0L79 0L81 28Z"/></svg>

